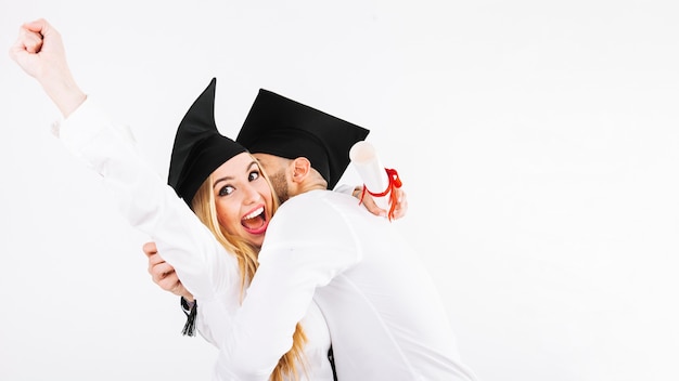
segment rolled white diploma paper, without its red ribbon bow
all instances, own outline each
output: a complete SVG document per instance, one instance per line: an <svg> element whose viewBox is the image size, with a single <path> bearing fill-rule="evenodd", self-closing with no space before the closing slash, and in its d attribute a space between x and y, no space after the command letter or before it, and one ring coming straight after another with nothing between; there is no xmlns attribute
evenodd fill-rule
<svg viewBox="0 0 679 381"><path fill-rule="evenodd" d="M351 149L349 149L349 159L368 190L380 194L388 188L389 178L372 144L366 141L354 144ZM387 193L383 197L372 196L372 198L380 208L388 211L389 196Z"/></svg>

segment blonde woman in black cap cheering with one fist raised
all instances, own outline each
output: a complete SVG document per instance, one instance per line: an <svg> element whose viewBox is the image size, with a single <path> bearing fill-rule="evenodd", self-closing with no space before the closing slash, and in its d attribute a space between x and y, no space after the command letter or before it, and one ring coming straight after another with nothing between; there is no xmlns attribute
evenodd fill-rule
<svg viewBox="0 0 679 381"><path fill-rule="evenodd" d="M128 133L78 88L61 36L49 23L25 24L10 55L59 107L64 117L59 134L66 147L103 176L121 213L153 237L163 258L201 301L206 319L202 333L208 340L221 337L256 271L258 248L277 200L256 160L217 132L214 81L177 131L171 189L148 167ZM193 212L202 223L194 218L195 224L177 226L175 221ZM332 380L326 358L330 337L318 307L310 306L303 325L278 364L251 369L243 378Z"/></svg>

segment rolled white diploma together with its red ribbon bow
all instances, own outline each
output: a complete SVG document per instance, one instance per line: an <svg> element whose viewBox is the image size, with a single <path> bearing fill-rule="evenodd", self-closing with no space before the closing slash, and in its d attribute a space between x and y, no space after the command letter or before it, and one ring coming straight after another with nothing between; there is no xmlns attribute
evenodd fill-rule
<svg viewBox="0 0 679 381"><path fill-rule="evenodd" d="M384 168L375 148L366 141L354 144L349 159L363 181L364 192L373 197L377 207L388 211L392 220L395 207L392 190L401 186L398 173Z"/></svg>

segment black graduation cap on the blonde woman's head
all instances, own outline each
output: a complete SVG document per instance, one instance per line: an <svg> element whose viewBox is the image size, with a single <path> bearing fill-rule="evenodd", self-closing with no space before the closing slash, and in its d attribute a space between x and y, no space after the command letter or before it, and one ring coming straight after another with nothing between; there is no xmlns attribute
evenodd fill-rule
<svg viewBox="0 0 679 381"><path fill-rule="evenodd" d="M247 152L217 131L216 87L217 79L213 78L187 111L175 136L167 183L189 206L213 171L235 155Z"/></svg>

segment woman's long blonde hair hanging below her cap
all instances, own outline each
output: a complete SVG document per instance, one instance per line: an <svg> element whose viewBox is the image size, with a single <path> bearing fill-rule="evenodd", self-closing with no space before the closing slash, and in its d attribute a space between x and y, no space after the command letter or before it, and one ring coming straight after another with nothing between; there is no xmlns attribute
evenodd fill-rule
<svg viewBox="0 0 679 381"><path fill-rule="evenodd" d="M260 168L261 171L261 168ZM261 171L264 174L264 171ZM269 178L264 174L265 180L269 184L269 189L273 189ZM239 270L241 274L241 302L243 301L243 291L249 285L251 279L257 271L259 254L259 248L247 242L244 238L234 236L227 233L227 231L219 225L217 220L217 208L215 207L215 194L213 192L213 179L207 178L196 192L191 207L193 212L198 216L201 222L207 226L217 240L227 249L228 252L235 255L239 262ZM271 190L273 198L273 208L271 214L276 212L279 206L278 197L276 193ZM304 345L307 342L307 337L302 328L302 325L297 323L295 327L295 333L293 334L293 346L287 353L285 353L280 359L273 372L271 373L271 381L283 380L298 380L299 375L297 372L296 365L299 364L302 369L306 372L306 364L304 356Z"/></svg>

